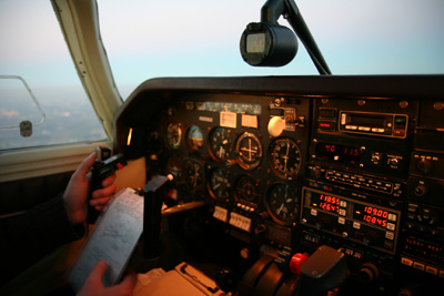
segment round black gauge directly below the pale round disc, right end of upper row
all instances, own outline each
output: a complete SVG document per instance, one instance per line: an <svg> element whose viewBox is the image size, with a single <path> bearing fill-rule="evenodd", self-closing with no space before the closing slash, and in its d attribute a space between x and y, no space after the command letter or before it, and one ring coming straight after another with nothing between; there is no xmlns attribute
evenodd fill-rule
<svg viewBox="0 0 444 296"><path fill-rule="evenodd" d="M294 178L301 170L301 150L287 137L281 137L270 145L270 164L282 178Z"/></svg>

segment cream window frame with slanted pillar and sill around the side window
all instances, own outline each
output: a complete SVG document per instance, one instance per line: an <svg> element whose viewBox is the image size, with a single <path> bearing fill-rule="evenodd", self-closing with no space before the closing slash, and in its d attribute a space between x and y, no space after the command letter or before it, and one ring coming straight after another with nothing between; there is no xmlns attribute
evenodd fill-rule
<svg viewBox="0 0 444 296"><path fill-rule="evenodd" d="M0 152L0 182L74 171L98 146L113 143L113 120L123 101L100 38L95 0L51 0L71 58L108 140L6 150Z"/></svg>

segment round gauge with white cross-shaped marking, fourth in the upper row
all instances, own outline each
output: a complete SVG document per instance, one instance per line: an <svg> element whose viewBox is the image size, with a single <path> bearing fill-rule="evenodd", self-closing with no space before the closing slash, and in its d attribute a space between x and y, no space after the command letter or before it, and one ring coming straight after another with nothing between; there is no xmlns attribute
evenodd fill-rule
<svg viewBox="0 0 444 296"><path fill-rule="evenodd" d="M262 161L262 144L255 134L244 132L234 147L235 161L244 170L256 169Z"/></svg>

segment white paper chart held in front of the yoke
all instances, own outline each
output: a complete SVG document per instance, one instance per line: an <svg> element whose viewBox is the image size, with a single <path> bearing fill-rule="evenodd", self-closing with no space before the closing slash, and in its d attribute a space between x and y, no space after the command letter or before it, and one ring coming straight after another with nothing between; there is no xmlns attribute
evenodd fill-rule
<svg viewBox="0 0 444 296"><path fill-rule="evenodd" d="M79 290L99 261L108 263L103 284L115 284L143 231L143 197L134 190L120 191L95 223L68 279Z"/></svg>

